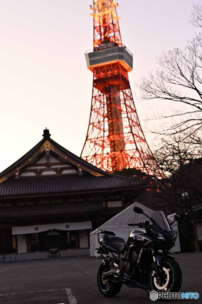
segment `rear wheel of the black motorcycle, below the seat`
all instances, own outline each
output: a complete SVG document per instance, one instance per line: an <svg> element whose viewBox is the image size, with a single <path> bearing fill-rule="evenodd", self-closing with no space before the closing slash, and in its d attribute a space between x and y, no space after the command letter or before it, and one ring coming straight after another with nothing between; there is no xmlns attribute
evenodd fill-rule
<svg viewBox="0 0 202 304"><path fill-rule="evenodd" d="M110 278L105 279L103 277L103 272L105 272L105 266L103 262L100 264L98 273L97 273L97 286L99 289L99 292L104 295L105 297L114 297L117 295L118 292L120 292L120 289L122 287L121 282L112 282L114 276L111 276Z"/></svg>

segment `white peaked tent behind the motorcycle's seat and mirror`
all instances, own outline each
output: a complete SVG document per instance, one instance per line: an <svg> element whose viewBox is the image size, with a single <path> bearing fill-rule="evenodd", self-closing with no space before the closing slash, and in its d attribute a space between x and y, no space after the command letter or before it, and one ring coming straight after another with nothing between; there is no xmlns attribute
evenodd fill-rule
<svg viewBox="0 0 202 304"><path fill-rule="evenodd" d="M116 233L116 237L121 237L125 241L127 241L130 233L134 229L141 229L138 226L128 226L128 223L139 223L144 222L145 220L149 220L145 215L138 214L133 211L134 206L141 207L144 210L144 213L150 215L150 213L154 212L152 209L143 206L142 204L135 202L117 215L115 215L112 219L109 219L106 223L99 226L96 230L90 233L90 256L91 257L99 257L100 254L97 254L97 250L94 248L98 248L100 245L97 240L97 231L99 230L108 230Z"/></svg>

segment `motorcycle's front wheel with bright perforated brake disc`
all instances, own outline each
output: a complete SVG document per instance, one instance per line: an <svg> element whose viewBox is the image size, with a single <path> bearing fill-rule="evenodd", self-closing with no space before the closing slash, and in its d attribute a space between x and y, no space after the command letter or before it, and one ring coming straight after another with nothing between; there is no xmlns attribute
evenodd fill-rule
<svg viewBox="0 0 202 304"><path fill-rule="evenodd" d="M180 265L172 258L164 258L161 263L161 280L159 281L153 268L149 275L150 291L179 292L182 285L182 271Z"/></svg>

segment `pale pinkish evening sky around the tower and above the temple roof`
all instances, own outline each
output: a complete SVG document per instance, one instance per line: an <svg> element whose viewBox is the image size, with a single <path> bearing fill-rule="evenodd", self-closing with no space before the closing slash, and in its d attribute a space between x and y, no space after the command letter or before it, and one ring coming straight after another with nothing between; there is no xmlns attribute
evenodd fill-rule
<svg viewBox="0 0 202 304"><path fill-rule="evenodd" d="M35 146L45 127L80 156L93 85L84 56L93 48L91 2L0 0L0 172ZM156 67L162 50L182 48L193 36L193 2L117 2L122 41L133 53L134 92L135 81ZM135 104L141 123L147 104Z"/></svg>

